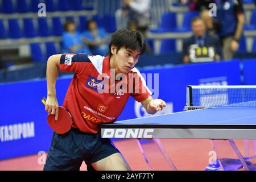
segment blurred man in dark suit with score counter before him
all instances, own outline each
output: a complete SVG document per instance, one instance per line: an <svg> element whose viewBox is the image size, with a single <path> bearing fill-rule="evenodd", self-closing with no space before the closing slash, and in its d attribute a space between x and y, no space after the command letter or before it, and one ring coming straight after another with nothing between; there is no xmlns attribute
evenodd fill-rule
<svg viewBox="0 0 256 182"><path fill-rule="evenodd" d="M222 58L221 42L217 35L208 34L205 22L196 17L191 23L193 35L183 42L183 63L218 61Z"/></svg>

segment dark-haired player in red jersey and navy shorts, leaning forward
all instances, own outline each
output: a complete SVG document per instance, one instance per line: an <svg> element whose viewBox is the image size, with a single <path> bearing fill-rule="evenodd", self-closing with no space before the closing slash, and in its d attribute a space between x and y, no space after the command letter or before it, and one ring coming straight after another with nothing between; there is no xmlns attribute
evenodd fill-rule
<svg viewBox="0 0 256 182"><path fill-rule="evenodd" d="M155 114L166 106L163 100L153 100L145 80L134 67L139 56L145 51L146 43L140 32L117 30L109 43L109 55L106 57L80 54L63 54L49 57L47 62L47 101L46 111L58 117L59 104L56 99L56 79L58 69L74 72L67 90L63 106L71 113L72 129L65 134L53 133L51 148L44 170L79 170L84 161L88 170L130 170L125 159L110 139L103 139L98 134L100 123L114 122L129 96L141 102L147 113ZM121 73L127 80L129 76L138 77L139 81L126 79L126 88L131 86L137 93L122 89L111 91L122 79L113 82L107 79ZM105 75L101 80L99 75ZM121 77L123 76L121 75ZM135 79L135 78L134 78ZM108 85L109 84L109 85ZM98 88L104 88L100 93ZM129 87L130 88L130 87ZM128 89L127 89L128 90ZM144 91L144 92L143 92ZM156 103L156 101L158 103Z"/></svg>

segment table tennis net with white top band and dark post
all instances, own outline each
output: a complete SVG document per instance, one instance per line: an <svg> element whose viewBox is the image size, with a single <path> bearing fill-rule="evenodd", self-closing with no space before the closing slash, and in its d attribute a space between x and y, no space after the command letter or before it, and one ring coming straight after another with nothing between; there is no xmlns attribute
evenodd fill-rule
<svg viewBox="0 0 256 182"><path fill-rule="evenodd" d="M256 86L188 86L187 106L256 107Z"/></svg>

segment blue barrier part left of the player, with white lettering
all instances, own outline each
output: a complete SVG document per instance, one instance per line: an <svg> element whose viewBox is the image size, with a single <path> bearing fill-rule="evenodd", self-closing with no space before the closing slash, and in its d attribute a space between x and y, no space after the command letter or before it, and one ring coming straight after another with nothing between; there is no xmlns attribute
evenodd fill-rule
<svg viewBox="0 0 256 182"><path fill-rule="evenodd" d="M59 103L71 79L57 80ZM46 80L0 85L0 160L48 151L52 130L40 102L47 96Z"/></svg>

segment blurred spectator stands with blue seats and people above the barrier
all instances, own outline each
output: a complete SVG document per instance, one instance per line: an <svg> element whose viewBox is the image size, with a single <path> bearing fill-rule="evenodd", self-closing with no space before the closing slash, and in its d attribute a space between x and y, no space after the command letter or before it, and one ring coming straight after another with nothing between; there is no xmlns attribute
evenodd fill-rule
<svg viewBox="0 0 256 182"><path fill-rule="evenodd" d="M119 28L147 40L139 68L256 57L254 0L0 0L0 82L45 77L49 56L106 56Z"/></svg>

